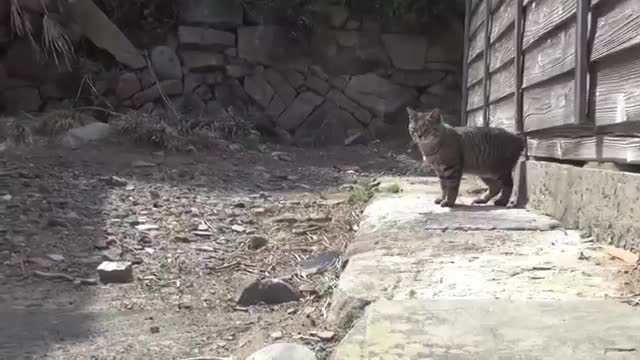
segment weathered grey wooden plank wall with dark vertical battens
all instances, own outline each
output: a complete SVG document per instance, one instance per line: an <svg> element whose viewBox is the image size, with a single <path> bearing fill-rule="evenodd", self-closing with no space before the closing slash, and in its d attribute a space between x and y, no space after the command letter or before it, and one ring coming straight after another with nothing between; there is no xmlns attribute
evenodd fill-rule
<svg viewBox="0 0 640 360"><path fill-rule="evenodd" d="M640 164L640 0L467 0L462 123Z"/></svg>

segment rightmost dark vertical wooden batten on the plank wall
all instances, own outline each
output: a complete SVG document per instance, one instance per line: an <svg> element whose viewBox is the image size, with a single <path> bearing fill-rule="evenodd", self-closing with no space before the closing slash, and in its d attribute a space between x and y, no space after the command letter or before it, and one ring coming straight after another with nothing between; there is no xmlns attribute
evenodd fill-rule
<svg viewBox="0 0 640 360"><path fill-rule="evenodd" d="M589 122L587 118L587 72L589 71L589 11L591 0L577 0L576 11L576 69L575 69L575 119L578 124Z"/></svg>

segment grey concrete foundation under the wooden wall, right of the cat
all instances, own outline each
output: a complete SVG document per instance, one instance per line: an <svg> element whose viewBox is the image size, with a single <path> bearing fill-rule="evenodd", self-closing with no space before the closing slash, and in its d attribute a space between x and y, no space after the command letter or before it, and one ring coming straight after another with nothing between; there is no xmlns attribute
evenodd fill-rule
<svg viewBox="0 0 640 360"><path fill-rule="evenodd" d="M599 242L640 250L640 174L528 161L528 207Z"/></svg>

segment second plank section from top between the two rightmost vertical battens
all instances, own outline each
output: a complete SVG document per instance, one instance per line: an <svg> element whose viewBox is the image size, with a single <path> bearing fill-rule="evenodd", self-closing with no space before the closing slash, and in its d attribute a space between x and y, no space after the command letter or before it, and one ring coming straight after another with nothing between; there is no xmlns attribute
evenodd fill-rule
<svg viewBox="0 0 640 360"><path fill-rule="evenodd" d="M576 23L524 52L523 86L531 86L575 67Z"/></svg>

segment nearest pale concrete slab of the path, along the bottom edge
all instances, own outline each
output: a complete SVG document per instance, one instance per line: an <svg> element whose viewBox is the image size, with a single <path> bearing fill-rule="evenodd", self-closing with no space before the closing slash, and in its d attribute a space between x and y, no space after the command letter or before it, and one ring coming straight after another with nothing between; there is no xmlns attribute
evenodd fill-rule
<svg viewBox="0 0 640 360"><path fill-rule="evenodd" d="M631 360L639 327L613 300L381 300L332 359Z"/></svg>

